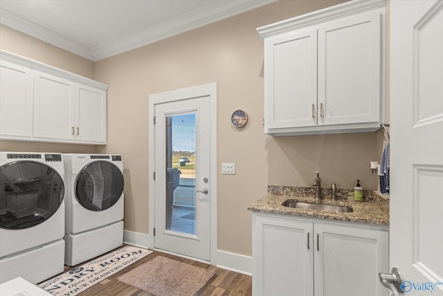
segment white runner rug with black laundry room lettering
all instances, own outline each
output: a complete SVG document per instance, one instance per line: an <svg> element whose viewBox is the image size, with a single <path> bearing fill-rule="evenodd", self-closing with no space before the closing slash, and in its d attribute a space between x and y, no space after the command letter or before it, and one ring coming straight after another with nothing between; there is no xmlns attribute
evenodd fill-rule
<svg viewBox="0 0 443 296"><path fill-rule="evenodd" d="M38 286L53 295L74 296L150 253L152 251L132 245L120 247Z"/></svg>

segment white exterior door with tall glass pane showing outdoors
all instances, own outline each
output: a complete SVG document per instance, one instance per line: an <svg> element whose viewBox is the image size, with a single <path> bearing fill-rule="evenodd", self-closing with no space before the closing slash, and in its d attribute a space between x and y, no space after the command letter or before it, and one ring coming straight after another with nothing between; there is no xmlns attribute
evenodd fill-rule
<svg viewBox="0 0 443 296"><path fill-rule="evenodd" d="M210 100L155 105L155 247L210 260Z"/></svg>

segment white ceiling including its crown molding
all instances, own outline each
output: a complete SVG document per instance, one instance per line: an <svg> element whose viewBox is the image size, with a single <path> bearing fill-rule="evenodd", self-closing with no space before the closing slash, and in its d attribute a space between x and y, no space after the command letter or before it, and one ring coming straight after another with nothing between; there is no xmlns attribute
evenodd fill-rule
<svg viewBox="0 0 443 296"><path fill-rule="evenodd" d="M278 0L1 0L0 24L101 60Z"/></svg>

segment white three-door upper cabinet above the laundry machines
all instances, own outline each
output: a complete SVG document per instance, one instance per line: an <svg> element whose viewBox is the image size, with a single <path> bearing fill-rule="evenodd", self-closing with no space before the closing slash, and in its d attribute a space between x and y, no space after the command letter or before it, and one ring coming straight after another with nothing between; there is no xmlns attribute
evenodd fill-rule
<svg viewBox="0 0 443 296"><path fill-rule="evenodd" d="M0 139L107 142L107 85L4 51Z"/></svg>

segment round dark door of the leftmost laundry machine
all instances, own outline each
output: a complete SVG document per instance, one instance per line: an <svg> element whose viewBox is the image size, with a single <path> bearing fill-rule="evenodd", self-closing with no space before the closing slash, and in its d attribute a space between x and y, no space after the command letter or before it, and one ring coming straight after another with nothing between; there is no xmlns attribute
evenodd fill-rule
<svg viewBox="0 0 443 296"><path fill-rule="evenodd" d="M24 229L44 223L63 202L62 177L40 162L0 166L0 228Z"/></svg>

